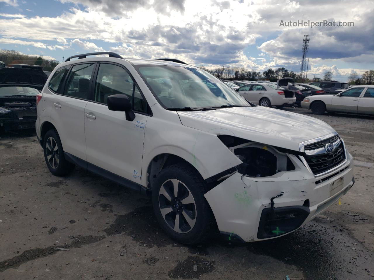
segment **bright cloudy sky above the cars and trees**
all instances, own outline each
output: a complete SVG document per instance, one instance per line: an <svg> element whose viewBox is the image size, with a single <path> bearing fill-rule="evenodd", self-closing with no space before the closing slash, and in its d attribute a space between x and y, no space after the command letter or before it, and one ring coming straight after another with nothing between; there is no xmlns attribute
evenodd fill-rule
<svg viewBox="0 0 374 280"><path fill-rule="evenodd" d="M374 69L373 0L0 0L0 49L62 62L77 53L172 57L193 65L300 71L310 35L308 77L346 81ZM354 22L286 27L281 21Z"/></svg>

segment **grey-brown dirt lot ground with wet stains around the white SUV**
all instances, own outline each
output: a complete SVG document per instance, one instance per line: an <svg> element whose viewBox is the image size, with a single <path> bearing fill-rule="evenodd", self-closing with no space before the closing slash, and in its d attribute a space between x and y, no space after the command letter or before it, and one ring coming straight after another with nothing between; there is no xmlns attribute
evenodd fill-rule
<svg viewBox="0 0 374 280"><path fill-rule="evenodd" d="M286 108L310 115L305 109ZM183 246L139 193L76 168L48 171L36 136L0 140L1 279L374 279L374 118L318 118L355 158L356 184L303 228L267 242Z"/></svg>

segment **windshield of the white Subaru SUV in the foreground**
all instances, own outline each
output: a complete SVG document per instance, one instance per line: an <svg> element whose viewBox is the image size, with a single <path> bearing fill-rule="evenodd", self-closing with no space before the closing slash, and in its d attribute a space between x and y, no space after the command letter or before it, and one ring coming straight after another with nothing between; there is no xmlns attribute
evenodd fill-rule
<svg viewBox="0 0 374 280"><path fill-rule="evenodd" d="M199 68L164 65L135 68L167 109L250 106L236 91Z"/></svg>

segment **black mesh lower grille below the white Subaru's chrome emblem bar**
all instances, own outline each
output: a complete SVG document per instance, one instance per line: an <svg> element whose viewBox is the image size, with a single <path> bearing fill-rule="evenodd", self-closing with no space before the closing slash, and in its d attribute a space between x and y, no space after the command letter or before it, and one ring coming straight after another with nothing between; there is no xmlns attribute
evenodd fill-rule
<svg viewBox="0 0 374 280"><path fill-rule="evenodd" d="M307 164L315 175L334 168L341 164L345 159L346 157L342 142L331 154L326 153L318 156L305 156Z"/></svg>

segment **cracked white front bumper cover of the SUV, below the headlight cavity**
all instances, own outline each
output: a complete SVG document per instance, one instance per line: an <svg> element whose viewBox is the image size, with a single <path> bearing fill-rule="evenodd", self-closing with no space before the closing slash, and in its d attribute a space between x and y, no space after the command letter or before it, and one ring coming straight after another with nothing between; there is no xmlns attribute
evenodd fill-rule
<svg viewBox="0 0 374 280"><path fill-rule="evenodd" d="M283 236L334 204L355 182L353 160L349 153L343 166L319 177L311 174L298 158L288 156L295 165L293 171L260 178L237 172L205 193L220 232L232 234L245 242ZM338 187L335 187L336 182ZM300 211L301 214L296 215L297 220L280 218L279 223L270 221L269 225L269 217L274 218L270 199L281 192L284 194L274 199L274 212L281 217L291 214L288 218L295 216L292 211Z"/></svg>

